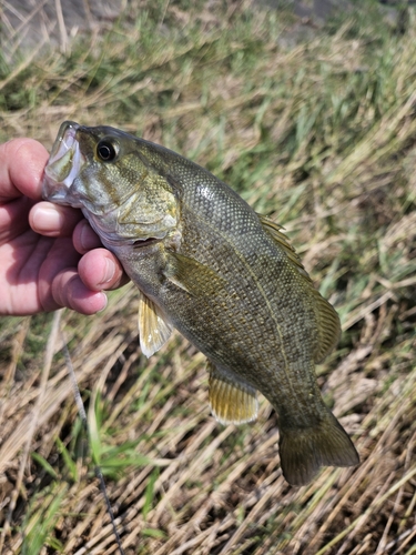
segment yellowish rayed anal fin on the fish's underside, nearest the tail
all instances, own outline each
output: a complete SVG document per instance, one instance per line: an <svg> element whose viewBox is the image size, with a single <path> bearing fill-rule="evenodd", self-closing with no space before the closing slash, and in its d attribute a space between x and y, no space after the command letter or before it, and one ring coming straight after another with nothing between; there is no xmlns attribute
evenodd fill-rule
<svg viewBox="0 0 416 555"><path fill-rule="evenodd" d="M234 381L221 372L211 361L210 405L215 418L221 424L243 424L257 417L257 392L254 387Z"/></svg>

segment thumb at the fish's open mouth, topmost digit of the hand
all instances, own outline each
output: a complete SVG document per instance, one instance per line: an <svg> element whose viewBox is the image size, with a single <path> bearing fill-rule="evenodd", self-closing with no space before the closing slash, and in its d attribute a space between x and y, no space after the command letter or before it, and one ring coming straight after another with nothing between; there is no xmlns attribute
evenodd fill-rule
<svg viewBox="0 0 416 555"><path fill-rule="evenodd" d="M48 158L45 148L33 139L13 139L0 144L0 202L21 194L41 199Z"/></svg>

